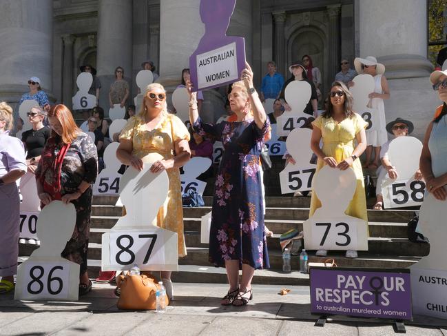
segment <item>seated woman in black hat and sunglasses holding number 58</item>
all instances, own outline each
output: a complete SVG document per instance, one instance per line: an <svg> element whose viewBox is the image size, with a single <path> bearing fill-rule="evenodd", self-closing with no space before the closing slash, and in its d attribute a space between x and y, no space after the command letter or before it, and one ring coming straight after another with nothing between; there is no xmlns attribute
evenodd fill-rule
<svg viewBox="0 0 447 336"><path fill-rule="evenodd" d="M386 124L386 131L394 135L394 139L397 137L406 137L414 130L413 123L411 121L397 118ZM384 197L382 196L382 182L384 181L386 174L390 179L397 179L397 170L393 167L393 164L388 159L388 148L391 141L394 139L386 141L385 144L380 148L380 161L382 165L377 169L377 182L375 188L375 205L374 210L382 210L384 206ZM417 170L415 174L415 179L422 179L421 170Z"/></svg>

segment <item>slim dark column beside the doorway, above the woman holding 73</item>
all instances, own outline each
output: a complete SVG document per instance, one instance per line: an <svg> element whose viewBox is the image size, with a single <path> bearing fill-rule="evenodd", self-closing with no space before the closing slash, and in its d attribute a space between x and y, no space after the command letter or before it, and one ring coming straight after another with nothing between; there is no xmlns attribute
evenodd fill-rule
<svg viewBox="0 0 447 336"><path fill-rule="evenodd" d="M329 15L329 64L326 78L329 83L325 83L325 88L329 88L333 77L339 71L340 63L340 7L341 5L328 6Z"/></svg>

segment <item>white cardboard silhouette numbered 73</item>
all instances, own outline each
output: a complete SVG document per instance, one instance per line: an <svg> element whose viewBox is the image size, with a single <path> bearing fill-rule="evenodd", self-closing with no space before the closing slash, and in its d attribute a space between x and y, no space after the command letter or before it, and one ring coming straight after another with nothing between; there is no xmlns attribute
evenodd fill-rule
<svg viewBox="0 0 447 336"><path fill-rule="evenodd" d="M352 168L324 166L315 174L313 192L322 207L303 223L306 250L368 250L368 223L344 213L356 183Z"/></svg>

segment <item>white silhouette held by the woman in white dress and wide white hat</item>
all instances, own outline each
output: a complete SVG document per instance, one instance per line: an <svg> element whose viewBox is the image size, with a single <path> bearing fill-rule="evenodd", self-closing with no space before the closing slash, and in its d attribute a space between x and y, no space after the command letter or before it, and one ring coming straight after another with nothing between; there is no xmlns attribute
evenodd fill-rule
<svg viewBox="0 0 447 336"><path fill-rule="evenodd" d="M374 92L375 88L374 77L367 74L357 75L354 77L353 82L354 86L349 88L354 98L353 110L368 123L366 130L374 130L377 122L375 122L373 109L368 108L370 101L368 95Z"/></svg>

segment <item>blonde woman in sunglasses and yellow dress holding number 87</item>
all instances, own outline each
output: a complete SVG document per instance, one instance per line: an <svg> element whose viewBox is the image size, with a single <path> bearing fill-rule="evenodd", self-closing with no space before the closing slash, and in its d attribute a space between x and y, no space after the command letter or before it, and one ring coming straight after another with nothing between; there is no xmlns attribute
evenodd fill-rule
<svg viewBox="0 0 447 336"><path fill-rule="evenodd" d="M116 157L125 165L143 170L143 157L158 153L163 159L156 161L152 172L166 170L169 190L165 204L158 210L155 225L176 232L178 235L178 256L185 257L186 246L183 235L183 206L180 192L180 172L178 168L191 157L189 132L185 124L166 110L165 88L158 83L147 86L140 113L129 119L121 131L120 145ZM171 299L173 290L171 272L161 273L166 293Z"/></svg>

